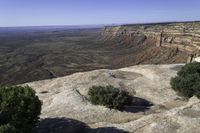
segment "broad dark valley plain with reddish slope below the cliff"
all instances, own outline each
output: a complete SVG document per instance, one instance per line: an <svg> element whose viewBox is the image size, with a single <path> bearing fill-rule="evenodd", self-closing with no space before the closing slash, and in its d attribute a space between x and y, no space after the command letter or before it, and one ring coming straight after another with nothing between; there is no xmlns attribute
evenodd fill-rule
<svg viewBox="0 0 200 133"><path fill-rule="evenodd" d="M181 51L155 47L154 39L140 32L131 38L104 39L101 28L46 28L0 30L0 85L136 64L180 63L188 57Z"/></svg>

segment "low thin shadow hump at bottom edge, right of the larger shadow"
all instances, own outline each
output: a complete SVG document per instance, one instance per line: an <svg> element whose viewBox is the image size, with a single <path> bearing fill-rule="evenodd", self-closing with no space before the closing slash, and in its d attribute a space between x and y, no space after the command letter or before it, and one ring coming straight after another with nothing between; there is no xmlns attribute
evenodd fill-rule
<svg viewBox="0 0 200 133"><path fill-rule="evenodd" d="M89 129L88 133L128 133L124 130L115 127L102 127L96 129Z"/></svg>

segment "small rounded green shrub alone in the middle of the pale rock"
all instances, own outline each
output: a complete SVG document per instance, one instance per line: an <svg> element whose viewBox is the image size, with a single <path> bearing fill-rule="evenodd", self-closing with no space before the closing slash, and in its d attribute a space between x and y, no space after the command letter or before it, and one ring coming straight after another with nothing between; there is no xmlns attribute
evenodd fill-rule
<svg viewBox="0 0 200 133"><path fill-rule="evenodd" d="M112 109L123 109L131 103L129 94L113 86L93 86L88 91L89 101L95 105L103 105Z"/></svg>

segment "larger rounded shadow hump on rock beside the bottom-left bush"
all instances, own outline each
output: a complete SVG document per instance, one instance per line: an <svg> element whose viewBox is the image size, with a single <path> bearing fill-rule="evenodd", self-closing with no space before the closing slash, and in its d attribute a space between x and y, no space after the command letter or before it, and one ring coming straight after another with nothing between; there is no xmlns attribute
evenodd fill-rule
<svg viewBox="0 0 200 133"><path fill-rule="evenodd" d="M88 126L74 119L46 118L33 129L33 133L86 133Z"/></svg>

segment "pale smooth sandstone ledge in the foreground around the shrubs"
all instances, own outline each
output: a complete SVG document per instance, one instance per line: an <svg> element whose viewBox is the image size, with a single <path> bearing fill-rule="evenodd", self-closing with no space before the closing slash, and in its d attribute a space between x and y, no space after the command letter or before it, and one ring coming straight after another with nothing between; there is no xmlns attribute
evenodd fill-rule
<svg viewBox="0 0 200 133"><path fill-rule="evenodd" d="M41 118L81 121L91 128L87 127L87 132L197 133L200 130L199 100L193 97L184 101L169 84L170 78L181 67L181 64L141 65L76 73L27 84L36 90L43 101ZM87 100L87 92L93 85L121 87L151 106L141 104L116 111L92 105ZM55 124L59 125L59 121ZM42 125L41 129L43 127L48 126ZM51 127L56 128L54 125Z"/></svg>

